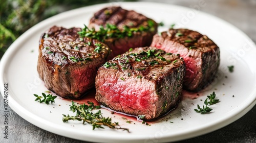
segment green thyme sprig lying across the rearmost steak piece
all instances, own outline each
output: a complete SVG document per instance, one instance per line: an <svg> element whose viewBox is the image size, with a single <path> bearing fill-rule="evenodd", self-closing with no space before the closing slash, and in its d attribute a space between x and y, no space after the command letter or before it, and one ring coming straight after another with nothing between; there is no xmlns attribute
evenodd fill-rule
<svg viewBox="0 0 256 143"><path fill-rule="evenodd" d="M129 28L124 26L123 30L120 30L117 26L109 23L107 23L105 27L100 26L99 31L96 31L94 28L89 29L84 25L84 28L82 31L79 31L78 34L80 37L90 37L103 42L105 39L109 38L132 37L135 32L155 31L154 26L155 22L153 20L148 20L147 26L140 26L139 28Z"/></svg>

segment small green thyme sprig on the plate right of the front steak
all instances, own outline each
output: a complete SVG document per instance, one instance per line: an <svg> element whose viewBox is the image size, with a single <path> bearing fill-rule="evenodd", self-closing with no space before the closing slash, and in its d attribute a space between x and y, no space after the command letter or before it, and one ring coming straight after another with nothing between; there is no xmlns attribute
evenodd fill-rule
<svg viewBox="0 0 256 143"><path fill-rule="evenodd" d="M216 98L216 94L214 91L214 92L212 92L212 94L210 94L210 96L207 96L207 99L205 99L205 101L204 101L205 106L203 105L203 108L201 108L199 105L197 105L198 109L194 109L194 110L201 114L209 113L212 110L212 108L208 107L208 105L216 104L219 102L219 99L215 99L215 98ZM208 99L210 101L208 101Z"/></svg>

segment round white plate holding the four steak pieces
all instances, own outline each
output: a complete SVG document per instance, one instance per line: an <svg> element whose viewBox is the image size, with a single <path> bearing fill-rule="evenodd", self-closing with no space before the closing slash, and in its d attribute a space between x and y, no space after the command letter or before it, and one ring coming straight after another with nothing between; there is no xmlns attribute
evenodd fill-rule
<svg viewBox="0 0 256 143"><path fill-rule="evenodd" d="M167 121L162 118L163 121L152 122L151 126L146 126L132 120L132 124L129 124L121 118L122 116L112 115L109 111L102 109L104 116L111 116L113 121L119 122L121 127L129 128L131 133L109 128L92 130L91 125L83 126L75 121L63 123L62 114L74 115L69 111L70 101L57 98L53 105L48 106L35 102L33 96L34 93L40 94L47 90L38 78L36 70L40 34L53 25L66 28L83 27L83 23L88 24L95 11L112 5L136 10L157 22L163 21L166 27L160 28L160 31L167 30L172 23L178 25L176 28L183 27L199 31L214 40L221 51L219 76L215 82L200 93L201 97L182 100L174 111L165 116L169 118ZM157 3L95 5L53 16L20 36L1 60L1 93L4 96L4 83L8 83L9 106L17 114L39 128L62 136L97 142L181 140L222 128L238 120L255 105L255 47L243 32L229 23L193 9ZM229 65L234 65L233 73L227 70ZM202 106L206 96L212 91L216 92L221 102L211 106L213 110L210 114L196 113L194 108L197 108L197 104Z"/></svg>

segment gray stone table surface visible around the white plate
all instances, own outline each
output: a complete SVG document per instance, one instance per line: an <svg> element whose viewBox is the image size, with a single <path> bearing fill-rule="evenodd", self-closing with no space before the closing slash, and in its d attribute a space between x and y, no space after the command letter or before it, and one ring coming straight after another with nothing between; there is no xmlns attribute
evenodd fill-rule
<svg viewBox="0 0 256 143"><path fill-rule="evenodd" d="M116 2L116 1L113 1ZM222 18L246 33L256 42L256 0L175 0L146 1L193 7L203 2L200 10ZM256 55L255 55L256 56ZM3 87L3 85L1 85ZM4 100L0 96L0 142L85 142L40 129L9 108L8 139L4 138ZM239 120L217 131L179 142L256 142L256 106Z"/></svg>

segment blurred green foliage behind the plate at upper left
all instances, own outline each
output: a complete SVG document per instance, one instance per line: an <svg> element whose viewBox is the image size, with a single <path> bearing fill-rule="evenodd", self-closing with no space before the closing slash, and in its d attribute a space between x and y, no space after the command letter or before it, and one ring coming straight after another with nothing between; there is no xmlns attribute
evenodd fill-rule
<svg viewBox="0 0 256 143"><path fill-rule="evenodd" d="M123 0L126 1L126 0ZM118 0L4 0L0 4L0 58L10 44L41 20L88 5ZM136 0L135 0L136 1Z"/></svg>

